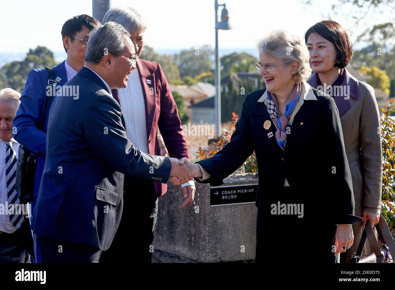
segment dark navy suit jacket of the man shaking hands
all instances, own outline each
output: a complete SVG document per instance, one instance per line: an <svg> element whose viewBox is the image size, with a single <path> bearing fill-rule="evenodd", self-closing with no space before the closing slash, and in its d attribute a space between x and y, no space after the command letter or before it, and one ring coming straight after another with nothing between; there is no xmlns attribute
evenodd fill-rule
<svg viewBox="0 0 395 290"><path fill-rule="evenodd" d="M134 147L119 104L93 71L82 67L66 86L78 86L79 95L56 97L49 113L32 229L105 251L122 215L124 174L166 183L171 162Z"/></svg>

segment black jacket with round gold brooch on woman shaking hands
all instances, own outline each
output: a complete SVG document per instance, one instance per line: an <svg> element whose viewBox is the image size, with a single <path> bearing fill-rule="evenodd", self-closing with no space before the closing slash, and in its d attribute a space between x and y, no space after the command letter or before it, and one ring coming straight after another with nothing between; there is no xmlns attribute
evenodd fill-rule
<svg viewBox="0 0 395 290"><path fill-rule="evenodd" d="M287 178L293 192L306 202L305 217L312 223L361 221L354 216L351 174L335 101L308 84L307 87L317 100L305 100L300 107L290 126L285 151L275 136L268 136L276 132L273 122L269 129L263 127L271 118L265 103L260 101L265 89L257 90L246 96L231 141L213 157L197 162L211 178L195 180L221 185L255 150L259 173L256 206L265 217L271 217L271 204L284 199L278 193Z"/></svg>

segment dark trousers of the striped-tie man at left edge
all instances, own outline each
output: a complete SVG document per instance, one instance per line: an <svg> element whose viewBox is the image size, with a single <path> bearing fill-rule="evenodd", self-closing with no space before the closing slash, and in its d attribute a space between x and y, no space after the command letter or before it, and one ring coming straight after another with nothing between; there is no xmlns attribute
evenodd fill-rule
<svg viewBox="0 0 395 290"><path fill-rule="evenodd" d="M30 225L27 218L15 232L0 232L0 263L30 262L30 255L26 251L30 243L29 234Z"/></svg>

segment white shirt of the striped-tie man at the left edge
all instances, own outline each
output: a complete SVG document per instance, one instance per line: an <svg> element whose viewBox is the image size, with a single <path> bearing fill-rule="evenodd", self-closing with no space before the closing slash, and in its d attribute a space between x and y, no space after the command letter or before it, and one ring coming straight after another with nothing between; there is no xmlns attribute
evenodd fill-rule
<svg viewBox="0 0 395 290"><path fill-rule="evenodd" d="M19 143L15 141L15 139L10 140L12 143L12 149L17 154L16 158L18 158L18 147ZM6 202L8 202L8 193L7 193L7 180L6 180L6 142L0 139L0 204L5 207ZM8 208L4 208L8 211ZM0 215L0 232L6 232L12 234L17 230L10 221L9 215ZM0 234L0 239L1 239Z"/></svg>

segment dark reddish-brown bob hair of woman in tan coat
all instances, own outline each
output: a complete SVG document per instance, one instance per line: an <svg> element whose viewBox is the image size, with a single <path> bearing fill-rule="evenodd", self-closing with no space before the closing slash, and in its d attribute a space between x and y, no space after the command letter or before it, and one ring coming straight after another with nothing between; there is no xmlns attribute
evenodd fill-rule
<svg viewBox="0 0 395 290"><path fill-rule="evenodd" d="M308 28L305 33L306 44L308 36L312 33L319 34L335 45L337 55L336 63L333 66L344 68L350 63L353 51L352 42L346 30L339 23L331 20L324 20L314 24Z"/></svg>

